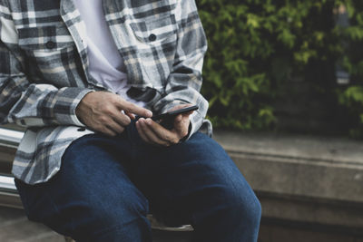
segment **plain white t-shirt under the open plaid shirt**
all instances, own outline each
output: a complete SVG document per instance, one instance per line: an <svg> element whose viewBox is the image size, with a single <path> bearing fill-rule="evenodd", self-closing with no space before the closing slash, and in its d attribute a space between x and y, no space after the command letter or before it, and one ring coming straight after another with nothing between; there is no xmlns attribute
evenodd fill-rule
<svg viewBox="0 0 363 242"><path fill-rule="evenodd" d="M74 4L86 27L87 36L83 38L88 45L90 74L126 101L145 106L144 102L132 100L126 94L131 86L127 84L123 57L104 18L103 0L75 0Z"/></svg>

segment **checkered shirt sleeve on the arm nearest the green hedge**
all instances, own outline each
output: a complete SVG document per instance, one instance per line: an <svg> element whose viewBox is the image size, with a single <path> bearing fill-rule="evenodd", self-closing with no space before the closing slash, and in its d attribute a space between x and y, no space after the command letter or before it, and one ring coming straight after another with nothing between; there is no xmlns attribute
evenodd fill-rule
<svg viewBox="0 0 363 242"><path fill-rule="evenodd" d="M191 115L191 137L201 128L208 110L208 102L200 93L207 39L194 0L179 1L179 4L182 6L178 9L183 12L178 23L174 64L165 88L166 95L155 103L154 109L164 112L178 104L198 105L199 110Z"/></svg>

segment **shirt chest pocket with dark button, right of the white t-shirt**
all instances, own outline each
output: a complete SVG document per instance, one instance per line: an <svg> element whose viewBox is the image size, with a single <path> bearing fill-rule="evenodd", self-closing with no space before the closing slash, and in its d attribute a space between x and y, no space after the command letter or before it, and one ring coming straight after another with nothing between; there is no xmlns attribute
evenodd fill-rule
<svg viewBox="0 0 363 242"><path fill-rule="evenodd" d="M122 44L124 63L137 86L162 90L167 82L178 41L175 15L168 14L125 25L128 33L124 36L128 38Z"/></svg>

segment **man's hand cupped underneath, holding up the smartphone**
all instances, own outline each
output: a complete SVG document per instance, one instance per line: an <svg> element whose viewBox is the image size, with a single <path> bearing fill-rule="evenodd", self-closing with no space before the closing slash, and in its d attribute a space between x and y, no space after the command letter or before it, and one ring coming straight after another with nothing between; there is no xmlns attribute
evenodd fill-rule
<svg viewBox="0 0 363 242"><path fill-rule="evenodd" d="M172 108L171 111L186 108L190 104L182 104ZM171 131L165 129L159 123L152 121L152 119L139 119L136 122L136 128L142 140L147 143L158 146L171 146L179 143L182 138L188 135L189 125L191 123L189 116L192 111L179 114L175 117L174 127Z"/></svg>

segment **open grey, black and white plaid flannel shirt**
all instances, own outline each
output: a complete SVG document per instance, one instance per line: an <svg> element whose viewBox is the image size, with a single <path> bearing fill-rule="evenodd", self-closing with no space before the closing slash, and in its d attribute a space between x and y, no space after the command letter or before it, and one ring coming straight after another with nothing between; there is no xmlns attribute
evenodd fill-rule
<svg viewBox="0 0 363 242"><path fill-rule="evenodd" d="M103 8L128 82L154 91L147 107L196 104L191 133L199 130L207 42L194 0L104 0ZM86 93L108 89L88 73L84 31L72 0L0 0L0 122L27 128L13 173L28 184L52 178L70 143L93 133L80 129L75 108Z"/></svg>

